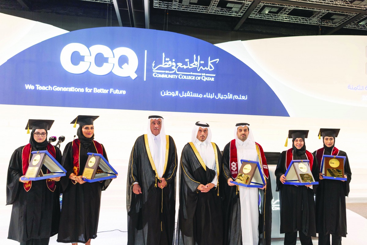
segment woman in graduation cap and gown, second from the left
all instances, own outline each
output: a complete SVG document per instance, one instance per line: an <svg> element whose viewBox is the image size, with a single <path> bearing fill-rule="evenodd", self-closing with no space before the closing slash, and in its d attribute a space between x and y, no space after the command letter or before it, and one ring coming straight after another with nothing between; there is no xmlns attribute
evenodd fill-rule
<svg viewBox="0 0 367 245"><path fill-rule="evenodd" d="M78 116L71 124L79 124L78 138L64 149L62 166L66 176L61 178L62 208L58 242L90 244L97 237L101 191L106 190L111 179L86 183L82 179L88 152L107 154L103 145L94 139L93 121L98 116ZM98 170L97 170L98 171Z"/></svg>

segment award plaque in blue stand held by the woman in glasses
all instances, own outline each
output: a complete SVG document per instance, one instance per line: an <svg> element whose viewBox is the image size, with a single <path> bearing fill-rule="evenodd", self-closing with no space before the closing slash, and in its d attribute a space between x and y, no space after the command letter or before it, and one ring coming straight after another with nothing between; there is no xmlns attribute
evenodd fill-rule
<svg viewBox="0 0 367 245"><path fill-rule="evenodd" d="M66 175L66 170L48 151L32 151L33 154L27 172L21 180L41 180ZM42 166L45 166L50 173L43 173Z"/></svg>

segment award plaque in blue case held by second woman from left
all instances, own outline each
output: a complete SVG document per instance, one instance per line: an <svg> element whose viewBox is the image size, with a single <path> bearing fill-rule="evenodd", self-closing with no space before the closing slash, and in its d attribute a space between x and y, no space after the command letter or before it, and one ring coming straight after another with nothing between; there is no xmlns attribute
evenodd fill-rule
<svg viewBox="0 0 367 245"><path fill-rule="evenodd" d="M102 154L90 152L87 154L89 156L82 174L85 182L96 182L116 178L116 170L112 168Z"/></svg>

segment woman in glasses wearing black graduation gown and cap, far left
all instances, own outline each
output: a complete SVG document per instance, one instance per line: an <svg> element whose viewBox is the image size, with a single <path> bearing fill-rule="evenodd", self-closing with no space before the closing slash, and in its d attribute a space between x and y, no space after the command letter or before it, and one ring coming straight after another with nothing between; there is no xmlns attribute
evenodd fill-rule
<svg viewBox="0 0 367 245"><path fill-rule="evenodd" d="M47 150L58 162L61 151L47 142L47 130L54 120L29 120L32 128L29 144L11 156L6 188L6 205L12 204L8 239L21 245L47 245L57 234L60 218L58 178L24 181L32 151ZM28 131L29 134L29 131ZM43 134L43 135L42 135ZM46 167L42 167L46 173Z"/></svg>

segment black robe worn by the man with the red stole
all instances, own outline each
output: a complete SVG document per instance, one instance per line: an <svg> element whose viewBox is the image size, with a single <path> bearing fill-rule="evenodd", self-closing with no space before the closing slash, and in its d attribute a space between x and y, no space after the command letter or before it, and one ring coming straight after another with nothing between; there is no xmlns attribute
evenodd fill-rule
<svg viewBox="0 0 367 245"><path fill-rule="evenodd" d="M223 200L223 244L242 245L240 195L237 191L237 186L228 185L228 178L232 178L229 165L229 150L230 142L223 150L222 162L224 171L222 172L221 181L219 182L219 185L221 186L221 197ZM260 148L260 151L264 153L262 148ZM261 198L259 205L259 245L270 245L272 231L271 201L273 199L270 176L266 179L266 189L258 190Z"/></svg>

